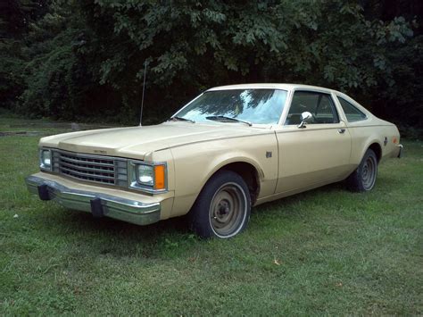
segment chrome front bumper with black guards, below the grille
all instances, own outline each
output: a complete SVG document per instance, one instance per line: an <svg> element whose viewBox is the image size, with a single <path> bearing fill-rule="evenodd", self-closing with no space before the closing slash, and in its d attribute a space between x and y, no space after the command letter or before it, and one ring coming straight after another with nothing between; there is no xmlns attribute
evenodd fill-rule
<svg viewBox="0 0 423 317"><path fill-rule="evenodd" d="M110 217L138 225L160 220L160 203L145 204L103 193L67 188L50 179L29 176L25 179L29 192L41 200L54 200L62 206L92 213L95 217Z"/></svg>

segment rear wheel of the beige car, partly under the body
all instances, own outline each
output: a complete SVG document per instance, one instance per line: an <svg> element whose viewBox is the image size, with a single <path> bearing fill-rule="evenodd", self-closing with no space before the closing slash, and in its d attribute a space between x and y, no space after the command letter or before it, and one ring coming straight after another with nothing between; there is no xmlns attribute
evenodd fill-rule
<svg viewBox="0 0 423 317"><path fill-rule="evenodd" d="M368 149L359 167L346 179L348 189L355 192L369 191L375 187L377 178L377 156Z"/></svg>

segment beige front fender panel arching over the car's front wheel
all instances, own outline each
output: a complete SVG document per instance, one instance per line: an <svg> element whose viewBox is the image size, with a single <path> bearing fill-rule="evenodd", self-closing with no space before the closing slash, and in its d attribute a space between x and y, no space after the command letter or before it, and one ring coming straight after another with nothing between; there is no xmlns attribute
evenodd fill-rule
<svg viewBox="0 0 423 317"><path fill-rule="evenodd" d="M175 166L172 215L185 214L211 176L230 163L249 163L259 174L259 196L272 195L278 179L278 144L274 134L228 138L171 148ZM271 157L266 153L271 152Z"/></svg>

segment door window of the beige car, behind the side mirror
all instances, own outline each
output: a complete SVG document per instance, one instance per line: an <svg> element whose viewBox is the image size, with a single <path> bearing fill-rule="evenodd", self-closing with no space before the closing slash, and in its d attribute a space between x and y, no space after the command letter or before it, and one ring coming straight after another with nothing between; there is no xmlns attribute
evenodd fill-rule
<svg viewBox="0 0 423 317"><path fill-rule="evenodd" d="M315 124L339 122L335 104L328 94L295 91L285 124L300 124L303 112L311 113Z"/></svg>

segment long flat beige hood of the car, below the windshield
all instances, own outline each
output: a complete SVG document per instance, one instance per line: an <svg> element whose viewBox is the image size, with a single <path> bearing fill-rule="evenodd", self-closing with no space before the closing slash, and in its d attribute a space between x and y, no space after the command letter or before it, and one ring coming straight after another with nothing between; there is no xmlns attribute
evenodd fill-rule
<svg viewBox="0 0 423 317"><path fill-rule="evenodd" d="M71 152L131 157L143 160L145 154L219 138L236 138L269 133L269 129L244 124L193 124L164 122L154 126L96 129L42 138L39 146Z"/></svg>

